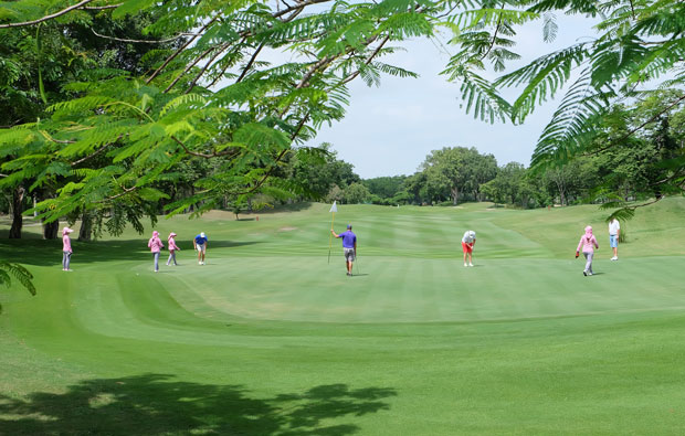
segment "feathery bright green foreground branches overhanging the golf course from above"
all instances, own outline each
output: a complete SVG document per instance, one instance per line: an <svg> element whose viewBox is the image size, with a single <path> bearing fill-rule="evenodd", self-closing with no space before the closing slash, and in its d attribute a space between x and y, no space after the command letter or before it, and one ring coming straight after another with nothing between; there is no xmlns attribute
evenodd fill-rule
<svg viewBox="0 0 685 436"><path fill-rule="evenodd" d="M102 20L139 13L154 20L138 38L114 36ZM508 71L508 62L519 57L521 26L539 23L541 40L552 40L555 13L598 18L598 36ZM382 59L420 36L455 49L443 74L461 84L463 107L476 118L524 123L540 103L565 94L533 156L534 169L545 171L596 151L601 119L616 103L654 95L653 86L674 89L628 137L682 104L683 17L681 0L4 2L1 41L33 32L33 43L21 51L33 53L31 79L49 106L44 117L0 130L0 158L10 157L0 187L23 180L31 180L30 189L54 187L54 198L38 206L48 221L165 200L173 214L191 206L202 213L226 196L240 202L255 192L288 195L297 187L277 177L282 166L294 156L323 153L303 145L322 125L344 117L347 84L360 78L375 85L382 74L415 76ZM150 50L147 70L94 67L51 95L43 85L50 70L42 30L75 24L103 40L175 45ZM7 64L4 57L0 62ZM17 76L15 70L6 71ZM491 71L502 76L488 81ZM4 86L13 79L4 78ZM523 88L513 102L502 95L509 87ZM649 192L683 191L682 150L681 145L658 156L668 170ZM192 181L193 192L171 199L164 184L179 181L178 166L193 159L210 162L212 171ZM438 189L439 178L434 181Z"/></svg>

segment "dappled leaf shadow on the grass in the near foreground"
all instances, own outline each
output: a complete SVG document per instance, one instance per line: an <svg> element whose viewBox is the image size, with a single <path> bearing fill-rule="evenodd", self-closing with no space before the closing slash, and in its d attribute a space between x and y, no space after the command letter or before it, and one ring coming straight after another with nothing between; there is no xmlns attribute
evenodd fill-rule
<svg viewBox="0 0 685 436"><path fill-rule="evenodd" d="M168 374L85 380L65 393L0 395L7 435L350 435L355 424L328 423L389 410L393 389L319 385L259 398L240 385L173 380Z"/></svg>

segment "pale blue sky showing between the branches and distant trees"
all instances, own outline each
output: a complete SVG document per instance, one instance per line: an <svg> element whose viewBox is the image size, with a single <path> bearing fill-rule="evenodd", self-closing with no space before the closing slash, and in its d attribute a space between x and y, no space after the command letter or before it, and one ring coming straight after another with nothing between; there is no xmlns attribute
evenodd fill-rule
<svg viewBox="0 0 685 436"><path fill-rule="evenodd" d="M519 29L514 51L523 59L510 65L523 66L541 54L594 35L593 23L586 18L560 15L557 23L559 31L552 43L542 42L541 21ZM476 120L460 107L460 84L439 74L450 59L445 47L439 49L428 40L403 46L407 52L382 61L420 77L382 76L380 87L367 87L361 79L355 79L349 85L350 105L345 119L324 126L308 146L330 142L338 158L354 164L362 179L413 174L431 150L443 147L475 147L481 153L494 155L499 166L513 161L528 166L537 138L556 109L555 102L538 107L519 126ZM455 51L453 46L446 50ZM512 100L514 94L505 96ZM557 100L562 96L557 95Z"/></svg>

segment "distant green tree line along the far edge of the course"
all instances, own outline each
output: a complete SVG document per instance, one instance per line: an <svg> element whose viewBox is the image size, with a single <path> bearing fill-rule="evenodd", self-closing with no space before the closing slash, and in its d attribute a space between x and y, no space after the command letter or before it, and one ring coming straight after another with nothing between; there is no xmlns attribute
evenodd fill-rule
<svg viewBox="0 0 685 436"><path fill-rule="evenodd" d="M662 91L631 105L613 105L602 117L587 153L541 171L518 162L499 167L494 156L475 148L445 147L431 151L412 176L360 180L352 167L335 155L323 169L304 166L297 174L301 182L318 188L318 195L312 199L342 203L455 205L492 201L533 209L658 199L674 193L663 189L663 181L674 174L663 162L685 160L685 105L664 110L665 102L676 95L676 91Z"/></svg>

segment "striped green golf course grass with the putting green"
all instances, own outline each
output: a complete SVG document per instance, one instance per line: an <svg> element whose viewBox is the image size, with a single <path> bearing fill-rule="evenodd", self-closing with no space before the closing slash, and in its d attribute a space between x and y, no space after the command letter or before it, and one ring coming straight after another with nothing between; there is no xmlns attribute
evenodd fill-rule
<svg viewBox="0 0 685 436"><path fill-rule="evenodd" d="M0 289L0 435L682 434L685 199L621 222L618 262L597 205L340 205L352 277L329 208L74 233L71 273L61 241L2 221L38 295ZM152 230L179 266L154 273Z"/></svg>

